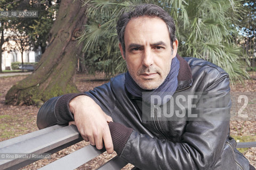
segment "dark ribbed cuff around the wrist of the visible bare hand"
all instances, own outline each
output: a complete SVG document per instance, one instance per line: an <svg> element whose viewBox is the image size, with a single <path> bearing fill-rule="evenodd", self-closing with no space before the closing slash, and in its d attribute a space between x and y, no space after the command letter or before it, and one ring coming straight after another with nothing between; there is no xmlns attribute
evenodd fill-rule
<svg viewBox="0 0 256 170"><path fill-rule="evenodd" d="M55 105L55 115L59 124L67 124L70 121L74 121L74 115L69 110L69 102L77 96L85 95L81 94L66 94L62 95Z"/></svg>

